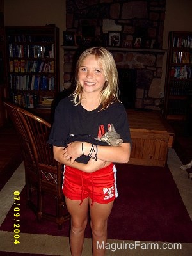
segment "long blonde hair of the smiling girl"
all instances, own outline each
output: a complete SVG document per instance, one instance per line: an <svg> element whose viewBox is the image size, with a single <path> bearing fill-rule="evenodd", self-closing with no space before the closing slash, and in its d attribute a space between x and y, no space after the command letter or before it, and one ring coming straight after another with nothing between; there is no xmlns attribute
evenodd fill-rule
<svg viewBox="0 0 192 256"><path fill-rule="evenodd" d="M100 93L100 104L102 109L108 108L109 104L116 102L118 99L118 72L116 69L116 63L112 54L104 47L91 47L86 49L79 57L75 71L75 83L76 89L72 95L74 96L74 104L79 104L83 98L82 86L78 81L79 69L84 59L90 55L95 55L100 65L104 70L104 76L106 77L106 83Z"/></svg>

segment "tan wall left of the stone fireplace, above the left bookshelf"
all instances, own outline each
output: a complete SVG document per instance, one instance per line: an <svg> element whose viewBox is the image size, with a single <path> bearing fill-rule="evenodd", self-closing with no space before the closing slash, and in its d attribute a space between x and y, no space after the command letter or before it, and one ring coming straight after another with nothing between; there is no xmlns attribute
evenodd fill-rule
<svg viewBox="0 0 192 256"><path fill-rule="evenodd" d="M4 26L45 26L46 24L56 24L60 28L60 45L63 45L65 1L4 0ZM63 49L61 48L60 88L63 88Z"/></svg>

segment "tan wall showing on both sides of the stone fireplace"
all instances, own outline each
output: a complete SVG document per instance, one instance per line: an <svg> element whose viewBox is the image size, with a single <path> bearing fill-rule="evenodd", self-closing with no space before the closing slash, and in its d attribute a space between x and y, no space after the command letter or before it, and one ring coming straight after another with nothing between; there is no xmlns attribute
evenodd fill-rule
<svg viewBox="0 0 192 256"><path fill-rule="evenodd" d="M17 3L17 4L15 4ZM166 0L163 48L167 48L168 31L192 31L192 1ZM55 23L60 28L60 45L63 45L65 0L4 0L5 26L44 26ZM164 58L162 83L164 83L166 58ZM63 86L63 49L60 51L60 87Z"/></svg>

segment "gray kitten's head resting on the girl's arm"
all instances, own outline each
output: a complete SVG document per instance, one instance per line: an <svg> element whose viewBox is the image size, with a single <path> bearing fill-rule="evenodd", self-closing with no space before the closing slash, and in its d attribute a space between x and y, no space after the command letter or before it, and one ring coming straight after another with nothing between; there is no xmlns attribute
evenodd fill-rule
<svg viewBox="0 0 192 256"><path fill-rule="evenodd" d="M100 141L104 141L110 146L120 146L123 142L123 140L120 138L120 134L115 131L113 124L110 125L109 131L103 134Z"/></svg>

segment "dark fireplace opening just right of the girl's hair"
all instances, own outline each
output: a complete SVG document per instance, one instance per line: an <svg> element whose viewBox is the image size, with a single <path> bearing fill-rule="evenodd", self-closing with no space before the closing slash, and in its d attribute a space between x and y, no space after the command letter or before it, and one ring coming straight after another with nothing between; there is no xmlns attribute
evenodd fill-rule
<svg viewBox="0 0 192 256"><path fill-rule="evenodd" d="M135 108L136 100L136 69L118 68L119 98L126 109Z"/></svg>

